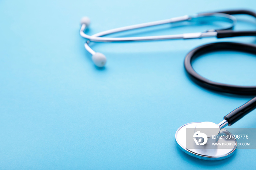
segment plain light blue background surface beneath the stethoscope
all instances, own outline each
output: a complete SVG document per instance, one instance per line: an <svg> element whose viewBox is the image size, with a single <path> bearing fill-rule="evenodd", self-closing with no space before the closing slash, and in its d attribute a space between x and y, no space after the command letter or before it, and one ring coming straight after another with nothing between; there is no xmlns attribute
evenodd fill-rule
<svg viewBox="0 0 256 170"><path fill-rule="evenodd" d="M256 152L240 149L223 161L184 154L176 130L193 121L219 123L253 96L211 92L185 74L183 61L205 43L256 43L254 37L162 42L97 43L108 58L97 69L79 35L197 12L248 8L255 0L0 1L0 169L241 169ZM237 30L256 29L239 16ZM207 27L207 26L206 26ZM126 36L199 32L169 25ZM209 27L212 28L212 27ZM193 65L211 80L255 85L256 57L237 52L204 55ZM256 128L256 111L233 125Z"/></svg>

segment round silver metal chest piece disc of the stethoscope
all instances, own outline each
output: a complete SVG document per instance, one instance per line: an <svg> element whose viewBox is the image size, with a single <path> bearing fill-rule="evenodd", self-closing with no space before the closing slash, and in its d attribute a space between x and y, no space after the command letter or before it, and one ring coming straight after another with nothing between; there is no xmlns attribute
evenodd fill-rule
<svg viewBox="0 0 256 170"><path fill-rule="evenodd" d="M186 140L186 137L188 137L188 134L186 135L186 131L187 131L186 129L188 128L191 130L195 130L195 135L198 135L196 133L196 131L197 131L196 127L200 123L201 122L188 123L188 124L181 126L176 131L175 139L176 139L178 146L180 147L180 149L182 151L184 151L188 155L191 155L192 157L204 159L204 160L210 160L210 161L226 159L234 154L234 151L236 150L236 144L237 144L236 139L234 139L234 138L232 138L232 139L219 138L218 135L216 137L217 141L215 143L220 143L220 144L227 143L227 140L228 140L228 143L230 144L230 146L223 148L223 146L218 145L218 144L213 146L212 143L210 142L208 144L207 143L204 144L203 146L196 147L196 143L192 139L191 141L189 141L189 142L191 142L189 144L189 146L187 144L187 147L186 147L186 143L188 142L188 140ZM193 131L193 134L194 134L194 131ZM220 130L219 134L232 135L229 131L227 131L224 128ZM208 138L208 139L210 139L210 138ZM195 147L191 147L191 144L195 145Z"/></svg>

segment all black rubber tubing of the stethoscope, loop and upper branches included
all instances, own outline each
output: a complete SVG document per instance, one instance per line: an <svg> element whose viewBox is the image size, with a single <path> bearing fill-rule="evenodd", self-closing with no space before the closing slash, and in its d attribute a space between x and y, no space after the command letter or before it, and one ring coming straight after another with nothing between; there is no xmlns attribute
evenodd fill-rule
<svg viewBox="0 0 256 170"><path fill-rule="evenodd" d="M251 15L256 18L256 13L249 10L232 10L232 11L220 11L220 13L226 13L229 15L236 14L245 14ZM256 36L256 31L233 31L233 30L216 30L217 38L226 38L226 37L234 37L234 36ZM234 42L218 42L206 44L196 49L190 51L184 61L185 69L189 75L189 77L205 88L216 90L224 93L233 93L233 94L241 94L241 95L256 95L256 86L237 86L237 85L229 85L214 82L208 80L195 72L192 67L192 61L196 57L199 57L202 54L210 53L212 51L219 50L232 50L232 51L242 51L245 53L251 53L256 55L256 46L244 43L234 43ZM252 73L253 74L253 73ZM224 116L224 119L227 120L229 126L236 123L236 121L240 120L246 114L251 112L256 108L256 97L252 98L250 101L242 105L241 107L234 109L232 112Z"/></svg>

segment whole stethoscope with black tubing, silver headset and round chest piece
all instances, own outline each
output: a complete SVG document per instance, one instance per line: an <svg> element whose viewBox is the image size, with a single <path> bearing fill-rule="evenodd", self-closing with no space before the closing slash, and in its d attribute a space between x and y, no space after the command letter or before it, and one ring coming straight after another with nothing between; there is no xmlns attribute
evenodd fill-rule
<svg viewBox="0 0 256 170"><path fill-rule="evenodd" d="M87 17L83 17L81 20L81 29L80 35L87 39L86 43L84 43L85 49L92 55L92 60L94 64L98 67L103 67L106 64L106 57L102 53L96 53L93 49L91 49L90 42L131 42L131 41L150 41L150 40L168 40L168 39L193 39L193 38L206 38L206 37L217 37L217 38L226 38L226 37L235 37L235 36L256 36L256 31L233 31L233 27L236 24L236 18L232 15L235 14L246 14L251 15L256 18L256 13L247 10L236 10L236 11L222 11L222 12L211 12L211 13L200 13L193 16L181 16L176 18L171 18L167 20L160 20L156 22L137 24L127 27L116 28L108 31L99 32L94 35L87 35L84 33L86 28L90 25L90 19ZM230 25L225 28L215 29L215 30L207 30L206 32L196 32L196 33L187 33L187 34L177 34L177 35L161 35L161 36L142 36L142 37L123 37L123 38L108 38L102 37L109 34L114 34L121 31L133 30L138 28L157 26L161 24L170 24L170 23L200 23L205 20L216 19L218 21L225 21ZM187 71L189 77L196 82L196 84L203 86L204 88L208 88L211 90L216 90L224 93L232 93L232 94L241 94L241 95L254 95L256 94L256 86L237 86L237 85L229 85L222 84L219 82L214 82L208 80L198 73L192 67L191 62L193 59L206 54L212 51L219 50L233 50L233 51L242 51L246 53L256 54L256 46L249 45L245 43L232 43L232 42L218 42L206 44L196 49L190 51L185 57L184 66ZM212 122L193 122L188 123L176 131L175 139L178 146L185 153L205 160L221 160L230 157L234 154L234 151L237 148L237 141L235 138L229 139L229 142L233 143L233 147L229 147L226 149L220 148L218 145L214 148L212 146L205 144L201 148L191 148L186 145L186 130L193 129L193 132L198 130L205 129L213 129L211 133L206 132L207 138L210 140L211 136L219 135L219 134L227 134L231 135L229 131L227 131L224 127L227 125L232 125L236 123L236 121L240 120L247 113L251 112L256 108L256 97L252 100L248 101L241 107L235 109L230 112L226 116L224 116L224 120L219 124L215 124ZM197 135L197 134L196 134ZM215 139L216 140L216 139ZM226 142L226 139L218 139L214 142L223 143Z"/></svg>

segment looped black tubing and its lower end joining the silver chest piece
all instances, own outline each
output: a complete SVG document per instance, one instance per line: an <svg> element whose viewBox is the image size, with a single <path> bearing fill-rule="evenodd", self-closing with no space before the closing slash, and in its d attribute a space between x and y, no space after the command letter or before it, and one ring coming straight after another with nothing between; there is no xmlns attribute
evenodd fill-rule
<svg viewBox="0 0 256 170"><path fill-rule="evenodd" d="M213 51L231 50L231 51L242 51L245 53L251 53L256 55L256 45L234 43L234 42L217 42L206 44L190 51L184 61L185 70L189 77L200 86L204 88L216 90L224 93L241 94L241 95L256 95L256 86L237 86L230 84L223 84L214 82L200 76L192 67L192 61L200 55L210 53ZM241 107L227 114L224 119L227 120L229 125L234 124L236 121L241 119L243 116L251 112L256 108L256 97L248 101Z"/></svg>

